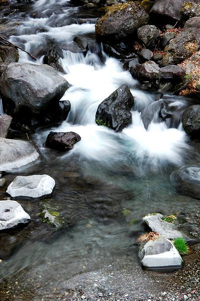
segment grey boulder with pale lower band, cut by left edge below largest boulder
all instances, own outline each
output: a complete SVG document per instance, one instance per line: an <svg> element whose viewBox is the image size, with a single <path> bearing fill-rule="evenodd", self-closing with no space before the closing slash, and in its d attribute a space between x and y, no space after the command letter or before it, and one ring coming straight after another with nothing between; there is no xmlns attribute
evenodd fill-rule
<svg viewBox="0 0 200 301"><path fill-rule="evenodd" d="M39 153L31 142L0 137L0 171L20 168L38 158Z"/></svg>

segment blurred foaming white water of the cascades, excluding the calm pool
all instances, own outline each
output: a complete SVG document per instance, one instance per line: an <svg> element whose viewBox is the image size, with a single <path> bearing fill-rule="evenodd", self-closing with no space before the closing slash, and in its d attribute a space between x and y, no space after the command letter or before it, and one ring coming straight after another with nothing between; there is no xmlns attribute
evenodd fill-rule
<svg viewBox="0 0 200 301"><path fill-rule="evenodd" d="M48 3L45 0L39 0L35 5L35 11L44 13L48 9ZM51 1L51 4L53 3ZM62 4L63 1L55 3ZM66 8L63 13L67 18L76 11L77 8ZM61 18L63 13L58 18ZM49 38L61 45L61 43L73 41L75 36L94 33L94 24L51 27L49 26L50 19L28 18L18 28L18 36L12 36L11 40L15 43L24 43L27 51L35 53L38 48L46 47ZM30 34L33 28L38 27L45 28L47 32L38 33L36 31L35 34ZM65 156L72 156L76 153L89 160L108 164L116 160L125 160L124 158L131 155L142 163L150 162L154 166L166 162L174 165L183 164L183 155L189 147L181 126L178 129L168 128L164 121L158 123L157 119L153 118L147 130L144 128L140 112L154 102L154 96L135 89L136 81L128 71L123 70L118 60L109 58L103 53L106 61L102 65L99 56L94 51L88 51L86 57L70 51L63 51L63 54L64 59L61 59L61 63L67 74L61 75L72 86L62 99L71 102L71 112L67 121L54 130L64 132L72 130L82 137L74 149ZM42 57L37 63L42 63ZM35 63L23 52L20 53L20 61ZM95 113L99 103L124 83L130 87L135 97L135 104L132 108L132 124L121 133L115 133L104 126L96 125ZM49 130L46 130L38 136L38 143L43 152L43 144L48 133Z"/></svg>

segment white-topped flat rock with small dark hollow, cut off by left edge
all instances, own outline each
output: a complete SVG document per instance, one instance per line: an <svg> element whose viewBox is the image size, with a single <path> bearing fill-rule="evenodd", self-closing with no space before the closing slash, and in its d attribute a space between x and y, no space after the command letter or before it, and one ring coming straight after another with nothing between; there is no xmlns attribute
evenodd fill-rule
<svg viewBox="0 0 200 301"><path fill-rule="evenodd" d="M0 201L0 230L14 228L31 220L28 213L16 201Z"/></svg>

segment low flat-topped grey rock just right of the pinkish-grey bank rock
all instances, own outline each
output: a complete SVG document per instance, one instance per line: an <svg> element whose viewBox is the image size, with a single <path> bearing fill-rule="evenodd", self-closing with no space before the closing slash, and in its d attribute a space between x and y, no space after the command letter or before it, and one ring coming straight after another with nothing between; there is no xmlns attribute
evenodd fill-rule
<svg viewBox="0 0 200 301"><path fill-rule="evenodd" d="M159 70L159 78L161 80L178 81L184 79L184 76L184 69L176 65L162 67Z"/></svg>

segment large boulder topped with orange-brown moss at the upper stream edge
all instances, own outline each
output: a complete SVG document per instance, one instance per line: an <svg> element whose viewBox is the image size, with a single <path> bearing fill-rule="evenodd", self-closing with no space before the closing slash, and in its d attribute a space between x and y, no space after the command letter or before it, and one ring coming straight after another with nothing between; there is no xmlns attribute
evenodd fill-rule
<svg viewBox="0 0 200 301"><path fill-rule="evenodd" d="M123 38L148 23L149 15L139 2L115 4L96 22L95 32L100 37Z"/></svg>

